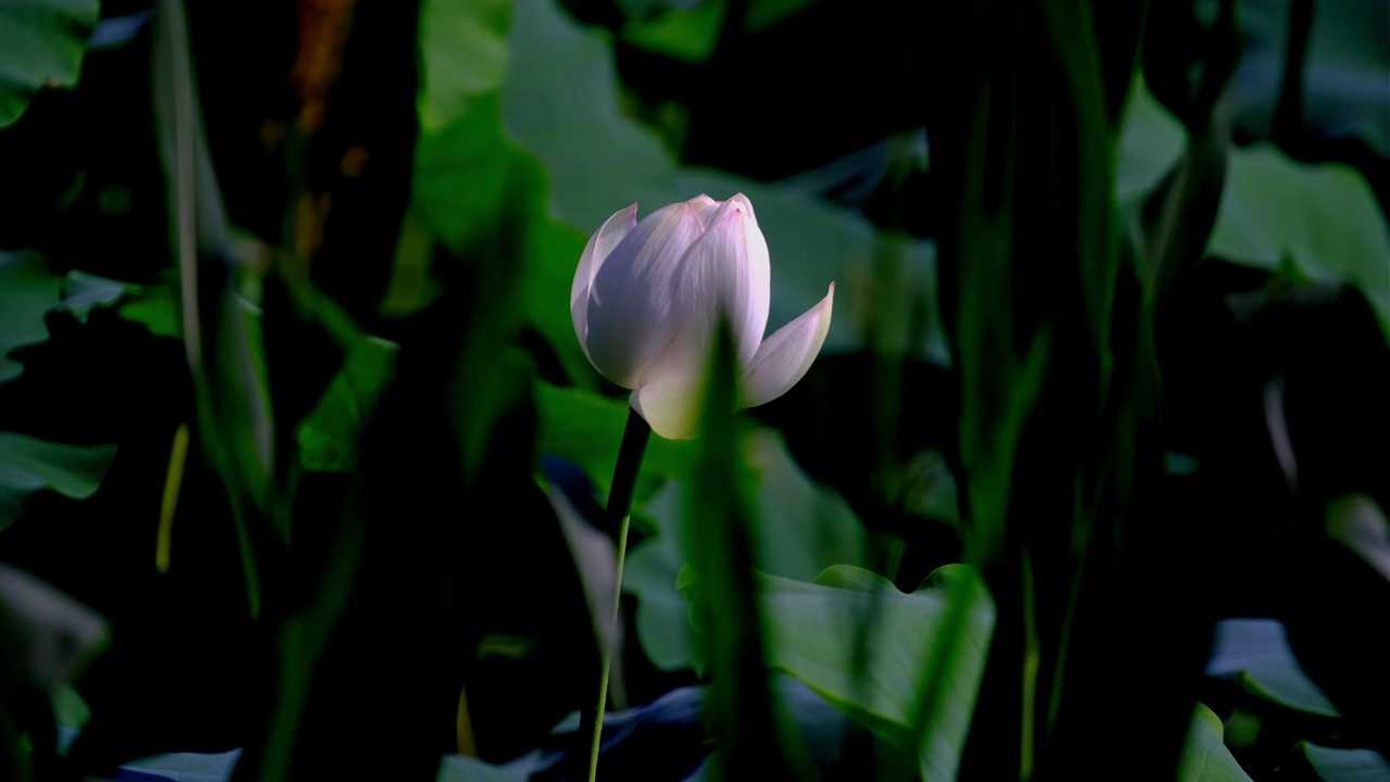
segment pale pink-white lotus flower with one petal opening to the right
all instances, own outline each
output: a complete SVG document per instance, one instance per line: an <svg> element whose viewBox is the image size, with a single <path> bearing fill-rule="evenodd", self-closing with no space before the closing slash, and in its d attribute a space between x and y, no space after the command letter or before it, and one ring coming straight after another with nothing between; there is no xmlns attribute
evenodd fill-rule
<svg viewBox="0 0 1390 782"><path fill-rule="evenodd" d="M570 316L584 355L631 388L652 430L688 440L720 317L739 367L739 406L770 402L810 369L830 330L835 285L816 306L763 340L771 267L753 205L701 195L637 221L637 205L609 217L584 248Z"/></svg>

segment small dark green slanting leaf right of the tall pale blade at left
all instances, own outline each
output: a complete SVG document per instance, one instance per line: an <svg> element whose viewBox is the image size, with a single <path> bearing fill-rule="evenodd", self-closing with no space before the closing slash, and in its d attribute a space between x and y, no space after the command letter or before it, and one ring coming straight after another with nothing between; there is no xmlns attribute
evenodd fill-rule
<svg viewBox="0 0 1390 782"><path fill-rule="evenodd" d="M400 346L367 337L343 360L314 409L299 422L299 462L313 472L352 472L357 442L391 381Z"/></svg>

